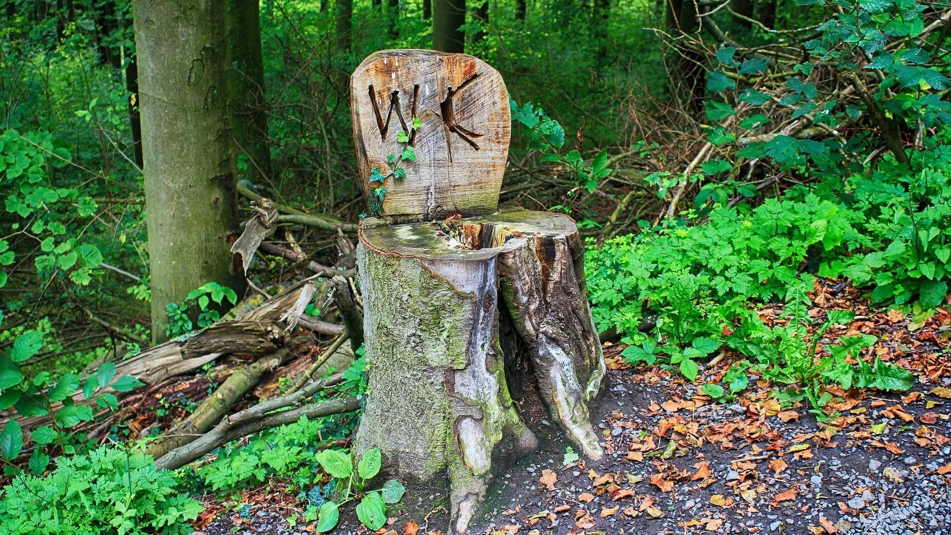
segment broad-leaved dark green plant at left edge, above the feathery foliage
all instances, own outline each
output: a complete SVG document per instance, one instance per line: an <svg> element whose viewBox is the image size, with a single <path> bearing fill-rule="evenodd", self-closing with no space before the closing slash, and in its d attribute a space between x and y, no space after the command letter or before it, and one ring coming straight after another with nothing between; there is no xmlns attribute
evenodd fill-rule
<svg viewBox="0 0 951 535"><path fill-rule="evenodd" d="M0 316L2 322L2 316ZM53 413L52 422L30 432L36 447L29 457L29 470L42 474L49 466L48 450L76 452L82 437L69 432L72 427L93 419L93 406L77 402L73 394L82 386L82 399L95 406L115 411L118 400L107 390L127 392L143 383L131 375L115 379L116 367L106 363L92 373L67 373L53 382L48 371L29 376L29 359L43 347L43 332L28 330L20 334L12 346L0 350L0 410L14 408L20 417L45 416ZM115 381L113 381L115 379ZM0 461L4 473L15 474L20 468L13 464L23 450L23 429L10 418L0 431Z"/></svg>

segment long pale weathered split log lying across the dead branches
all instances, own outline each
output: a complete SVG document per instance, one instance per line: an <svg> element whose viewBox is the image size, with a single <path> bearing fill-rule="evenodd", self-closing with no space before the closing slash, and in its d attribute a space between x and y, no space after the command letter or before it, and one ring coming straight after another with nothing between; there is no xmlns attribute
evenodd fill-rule
<svg viewBox="0 0 951 535"><path fill-rule="evenodd" d="M165 342L165 344L146 349L137 355L116 363L114 380L124 375L131 375L146 385L153 385L165 381L169 377L202 367L222 355L222 350L226 347L220 343L221 336L230 337L234 335L235 329L243 331L248 323L273 325L272 322L281 321L284 326L283 335L286 335L297 325L297 319L300 318L304 308L313 299L316 291L317 287L310 283L291 287L264 302L261 306L245 310L243 316L237 320L228 320L216 324L213 326L213 328L218 329L215 331L216 334L205 334L206 331L202 331L191 337L185 337L184 340L171 340ZM191 358L185 358L184 347L187 347L185 350ZM230 349L226 350L227 352L233 352ZM273 349L267 352L272 351ZM72 394L72 400L76 404L91 403L86 400L81 389ZM59 403L53 404L50 407L52 412L43 416L27 418L16 416L16 421L26 430L43 426L52 420L52 413L55 413L60 406ZM12 415L13 412L10 410L0 413L0 426L4 425Z"/></svg>

